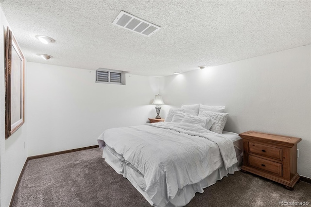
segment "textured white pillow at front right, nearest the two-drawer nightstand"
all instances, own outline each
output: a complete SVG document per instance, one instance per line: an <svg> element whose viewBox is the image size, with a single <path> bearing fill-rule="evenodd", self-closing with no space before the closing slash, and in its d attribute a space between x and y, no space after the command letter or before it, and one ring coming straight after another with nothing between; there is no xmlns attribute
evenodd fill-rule
<svg viewBox="0 0 311 207"><path fill-rule="evenodd" d="M210 127L210 131L216 132L218 134L223 134L223 129L225 127L225 122L227 122L228 113L217 113L213 111L204 111L200 116L209 117L215 123Z"/></svg>

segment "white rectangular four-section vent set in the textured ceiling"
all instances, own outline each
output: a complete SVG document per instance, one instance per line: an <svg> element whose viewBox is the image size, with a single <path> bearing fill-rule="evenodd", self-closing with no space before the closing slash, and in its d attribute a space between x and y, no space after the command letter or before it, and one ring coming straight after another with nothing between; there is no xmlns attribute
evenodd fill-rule
<svg viewBox="0 0 311 207"><path fill-rule="evenodd" d="M155 32L157 32L159 29L161 29L161 27L156 26L155 24L135 17L124 11L120 12L118 17L112 22L112 24L146 36L151 36L155 34Z"/></svg>

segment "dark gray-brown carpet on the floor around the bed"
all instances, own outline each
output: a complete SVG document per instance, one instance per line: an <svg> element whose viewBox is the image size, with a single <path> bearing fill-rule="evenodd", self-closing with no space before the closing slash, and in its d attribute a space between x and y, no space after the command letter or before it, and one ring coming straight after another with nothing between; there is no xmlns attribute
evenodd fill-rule
<svg viewBox="0 0 311 207"><path fill-rule="evenodd" d="M309 201L311 184L294 191L267 179L236 172L196 193L187 207L279 207L279 201ZM90 149L30 160L13 207L150 207L132 184Z"/></svg>

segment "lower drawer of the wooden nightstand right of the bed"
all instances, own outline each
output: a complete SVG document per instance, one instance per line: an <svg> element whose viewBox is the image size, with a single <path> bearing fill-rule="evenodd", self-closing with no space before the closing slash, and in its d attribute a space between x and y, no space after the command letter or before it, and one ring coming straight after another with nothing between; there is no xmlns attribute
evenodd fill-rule
<svg viewBox="0 0 311 207"><path fill-rule="evenodd" d="M270 173L275 173L279 176L282 176L282 164L277 162L272 162L269 160L261 159L256 156L248 156L248 165L259 168L261 170L268 171Z"/></svg>

